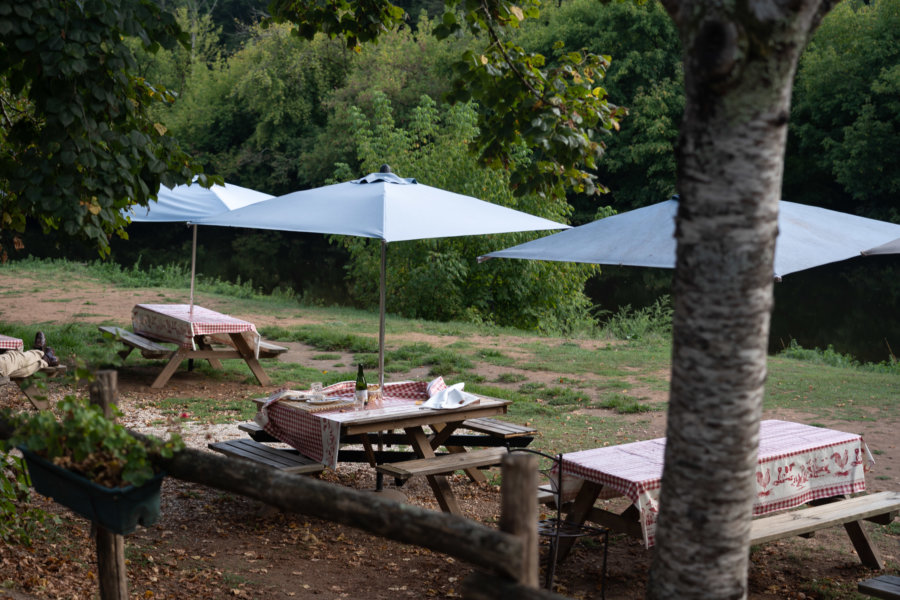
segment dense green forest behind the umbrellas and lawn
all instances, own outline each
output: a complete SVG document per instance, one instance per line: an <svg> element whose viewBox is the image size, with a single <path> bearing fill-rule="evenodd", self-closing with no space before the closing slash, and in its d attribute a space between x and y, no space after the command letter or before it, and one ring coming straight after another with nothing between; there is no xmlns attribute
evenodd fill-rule
<svg viewBox="0 0 900 600"><path fill-rule="evenodd" d="M177 94L160 123L208 173L273 195L344 181L391 165L404 177L573 225L646 206L674 192L674 146L684 107L681 49L671 19L646 3L567 0L513 33L548 61L587 49L611 63L603 87L626 107L604 138L602 196L515 196L506 172L468 151L472 103L448 104L450 70L474 40L438 40L442 2L398 2L420 15L359 51L290 28L261 26L266 0L178 0L166 6L190 32L189 48L147 54L141 75ZM597 32L601 32L599 35ZM845 1L806 49L794 86L782 197L900 222L900 0ZM521 160L528 160L523 154ZM90 260L96 249L29 228L25 256ZM131 267L182 265L183 225L132 224L111 240ZM665 310L671 272L476 257L538 234L392 244L388 306L432 320L463 319L571 333L625 305ZM202 277L251 281L303 302L377 305L377 253L360 238L202 228ZM436 292L437 290L437 292ZM900 265L854 259L793 274L775 287L770 350L796 340L833 345L860 360L900 352Z"/></svg>

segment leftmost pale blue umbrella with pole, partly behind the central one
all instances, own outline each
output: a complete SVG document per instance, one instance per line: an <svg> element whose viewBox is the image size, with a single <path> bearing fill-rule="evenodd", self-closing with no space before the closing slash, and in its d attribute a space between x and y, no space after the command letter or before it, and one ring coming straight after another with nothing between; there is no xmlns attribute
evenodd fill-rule
<svg viewBox="0 0 900 600"><path fill-rule="evenodd" d="M243 208L273 196L248 188L226 183L213 185L210 188L199 185L178 185L174 188L160 186L156 201L148 206L132 206L124 211L134 223L188 223L221 214L230 210ZM190 306L194 307L194 273L197 263L197 226L194 225L193 243L191 246L191 297Z"/></svg>

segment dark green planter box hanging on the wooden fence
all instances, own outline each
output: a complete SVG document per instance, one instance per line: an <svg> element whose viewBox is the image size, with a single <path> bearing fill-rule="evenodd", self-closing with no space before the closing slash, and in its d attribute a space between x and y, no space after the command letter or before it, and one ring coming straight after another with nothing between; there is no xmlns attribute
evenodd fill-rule
<svg viewBox="0 0 900 600"><path fill-rule="evenodd" d="M140 487L108 488L58 467L26 448L19 449L25 456L35 490L113 533L132 533L138 523L147 527L159 520L159 488L164 473Z"/></svg>

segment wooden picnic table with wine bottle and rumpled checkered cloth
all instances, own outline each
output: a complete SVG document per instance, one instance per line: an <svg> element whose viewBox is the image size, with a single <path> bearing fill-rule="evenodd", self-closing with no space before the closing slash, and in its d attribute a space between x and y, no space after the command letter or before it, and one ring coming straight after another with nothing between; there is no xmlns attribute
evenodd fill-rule
<svg viewBox="0 0 900 600"><path fill-rule="evenodd" d="M442 384L440 381L438 385ZM266 433L331 468L337 466L342 440L355 436L363 445L368 462L379 472L399 479L425 476L441 510L460 514L446 475L465 470L470 477L475 476L479 467L499 464L507 448L472 451L447 446L448 440L466 420L505 414L509 401L477 396L475 403L461 408L425 408L422 404L429 397L428 385L385 384L383 399L360 409L353 405L354 382L341 382L325 388L327 397L334 399L331 404L274 399L261 407L257 422L261 422ZM431 429L431 434L426 433L425 427ZM418 459L379 464L374 449L377 436L394 430L403 432L399 441L409 445ZM449 453L436 455L440 446L448 447Z"/></svg>

